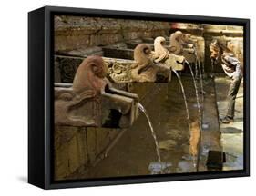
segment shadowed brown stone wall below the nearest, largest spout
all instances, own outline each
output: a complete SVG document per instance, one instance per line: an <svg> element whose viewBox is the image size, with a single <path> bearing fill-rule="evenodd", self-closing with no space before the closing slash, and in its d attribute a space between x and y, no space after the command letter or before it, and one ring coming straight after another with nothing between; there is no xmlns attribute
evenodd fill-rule
<svg viewBox="0 0 256 196"><path fill-rule="evenodd" d="M55 180L76 179L77 173L87 173L122 132L124 130L55 126Z"/></svg>

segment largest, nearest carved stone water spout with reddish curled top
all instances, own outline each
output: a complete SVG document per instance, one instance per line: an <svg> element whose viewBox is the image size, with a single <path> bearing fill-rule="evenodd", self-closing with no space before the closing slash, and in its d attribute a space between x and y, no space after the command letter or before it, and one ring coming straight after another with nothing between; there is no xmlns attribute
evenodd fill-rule
<svg viewBox="0 0 256 196"><path fill-rule="evenodd" d="M89 56L79 65L73 85L56 83L55 124L113 128L131 126L138 117L138 95L113 88L106 76L107 65L103 59ZM110 120L115 123L111 125L109 115L113 111L115 119Z"/></svg>

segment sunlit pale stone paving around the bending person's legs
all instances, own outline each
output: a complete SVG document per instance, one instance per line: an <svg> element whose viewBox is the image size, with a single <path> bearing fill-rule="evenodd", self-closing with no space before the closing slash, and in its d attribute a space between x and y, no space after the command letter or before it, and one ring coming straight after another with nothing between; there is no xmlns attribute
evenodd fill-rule
<svg viewBox="0 0 256 196"><path fill-rule="evenodd" d="M224 76L215 77L216 99L219 117L222 118L227 110L226 96L230 79ZM222 151L226 153L223 171L243 169L243 80L235 105L234 122L220 123Z"/></svg>

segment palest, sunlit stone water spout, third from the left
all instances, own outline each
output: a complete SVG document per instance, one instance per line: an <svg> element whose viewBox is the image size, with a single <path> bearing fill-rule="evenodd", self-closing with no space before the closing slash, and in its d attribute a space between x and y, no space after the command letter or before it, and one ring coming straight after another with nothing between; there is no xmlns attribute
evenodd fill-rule
<svg viewBox="0 0 256 196"><path fill-rule="evenodd" d="M181 71L184 69L185 57L177 54L169 54L167 48L165 48L164 43L166 39L162 36L159 36L154 41L153 58L156 63L164 64L169 69L176 71Z"/></svg>

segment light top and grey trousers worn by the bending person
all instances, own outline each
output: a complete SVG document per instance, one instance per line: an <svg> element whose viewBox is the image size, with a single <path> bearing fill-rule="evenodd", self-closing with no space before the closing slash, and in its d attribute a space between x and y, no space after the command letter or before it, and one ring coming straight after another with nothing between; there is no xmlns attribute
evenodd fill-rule
<svg viewBox="0 0 256 196"><path fill-rule="evenodd" d="M232 119L234 118L235 100L242 78L242 67L239 60L233 54L224 53L221 55L221 60L224 72L230 77L230 88L227 96L228 111L226 116Z"/></svg>

